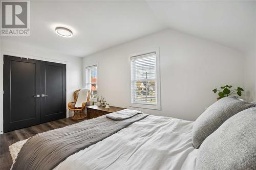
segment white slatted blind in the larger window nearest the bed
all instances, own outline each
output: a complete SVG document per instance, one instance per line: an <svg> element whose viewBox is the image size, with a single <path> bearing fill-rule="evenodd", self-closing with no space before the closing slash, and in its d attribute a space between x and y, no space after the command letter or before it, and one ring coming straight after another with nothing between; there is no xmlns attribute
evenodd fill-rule
<svg viewBox="0 0 256 170"><path fill-rule="evenodd" d="M156 53L131 57L132 103L157 105Z"/></svg>

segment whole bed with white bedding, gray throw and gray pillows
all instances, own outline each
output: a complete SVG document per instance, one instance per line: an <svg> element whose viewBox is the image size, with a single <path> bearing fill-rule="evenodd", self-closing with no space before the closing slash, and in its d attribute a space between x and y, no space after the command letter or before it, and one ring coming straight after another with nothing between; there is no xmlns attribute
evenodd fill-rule
<svg viewBox="0 0 256 170"><path fill-rule="evenodd" d="M227 97L195 122L121 110L31 137L12 169L255 169L254 106Z"/></svg>

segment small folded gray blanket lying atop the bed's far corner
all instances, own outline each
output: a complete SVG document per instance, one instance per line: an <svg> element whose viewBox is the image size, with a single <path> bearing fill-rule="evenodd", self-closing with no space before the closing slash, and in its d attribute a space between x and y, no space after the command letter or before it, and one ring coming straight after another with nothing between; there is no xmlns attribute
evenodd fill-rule
<svg viewBox="0 0 256 170"><path fill-rule="evenodd" d="M133 117L138 113L142 113L142 112L138 110L123 109L117 112L107 114L106 117L111 118L112 120L124 120L126 118Z"/></svg>

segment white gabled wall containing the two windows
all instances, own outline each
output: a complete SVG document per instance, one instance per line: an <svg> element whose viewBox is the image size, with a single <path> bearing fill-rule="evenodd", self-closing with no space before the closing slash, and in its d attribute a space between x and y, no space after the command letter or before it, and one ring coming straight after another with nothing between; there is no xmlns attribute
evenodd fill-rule
<svg viewBox="0 0 256 170"><path fill-rule="evenodd" d="M161 110L133 109L195 120L216 101L217 94L212 93L212 89L225 84L244 87L242 53L173 30L86 56L83 73L86 66L98 64L98 93L105 96L110 105L128 108L131 104L130 56L156 47L160 52Z"/></svg>

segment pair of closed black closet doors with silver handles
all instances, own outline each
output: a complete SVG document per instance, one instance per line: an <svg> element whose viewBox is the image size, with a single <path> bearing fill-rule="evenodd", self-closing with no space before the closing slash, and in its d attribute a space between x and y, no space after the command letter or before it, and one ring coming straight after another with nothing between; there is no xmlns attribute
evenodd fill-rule
<svg viewBox="0 0 256 170"><path fill-rule="evenodd" d="M66 117L66 65L4 55L4 132Z"/></svg>

